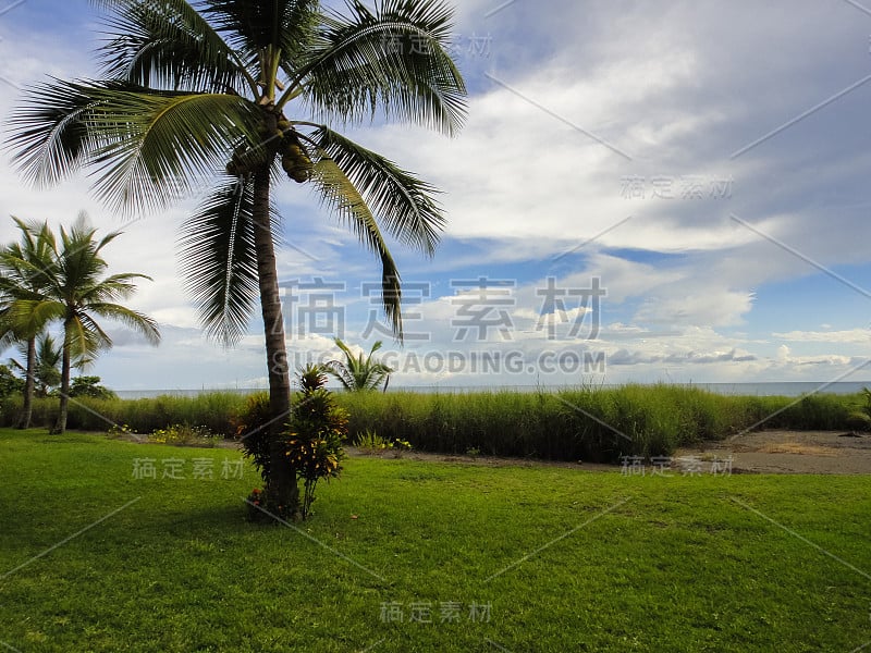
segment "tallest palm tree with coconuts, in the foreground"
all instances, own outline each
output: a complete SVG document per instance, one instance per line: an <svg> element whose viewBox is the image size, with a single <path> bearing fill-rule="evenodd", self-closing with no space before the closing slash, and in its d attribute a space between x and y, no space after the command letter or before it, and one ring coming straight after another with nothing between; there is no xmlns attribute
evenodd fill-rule
<svg viewBox="0 0 871 653"><path fill-rule="evenodd" d="M308 184L378 257L387 317L402 337L387 234L431 255L444 224L434 189L336 133L376 114L455 133L463 78L438 0L99 0L109 9L101 81L33 88L13 115L17 165L36 182L96 168L96 190L161 208L213 185L184 225L187 284L206 331L236 342L259 293L275 466L270 493L298 498L279 438L291 409L275 268L273 184ZM216 177L218 181L216 183Z"/></svg>

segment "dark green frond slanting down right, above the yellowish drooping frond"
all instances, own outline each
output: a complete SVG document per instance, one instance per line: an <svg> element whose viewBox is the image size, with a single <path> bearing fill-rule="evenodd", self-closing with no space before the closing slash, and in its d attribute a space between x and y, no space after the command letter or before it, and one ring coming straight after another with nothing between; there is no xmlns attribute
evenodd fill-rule
<svg viewBox="0 0 871 653"><path fill-rule="evenodd" d="M388 233L428 256L434 254L446 223L433 199L436 188L326 126L312 134L312 141L347 175Z"/></svg>

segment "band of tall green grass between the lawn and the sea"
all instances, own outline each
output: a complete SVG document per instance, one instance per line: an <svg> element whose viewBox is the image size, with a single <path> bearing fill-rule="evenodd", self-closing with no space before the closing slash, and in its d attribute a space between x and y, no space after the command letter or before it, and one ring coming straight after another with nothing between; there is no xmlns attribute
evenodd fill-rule
<svg viewBox="0 0 871 653"><path fill-rule="evenodd" d="M372 431L410 441L427 452L555 460L617 461L624 455L670 455L682 445L722 440L748 429L848 430L861 395L790 397L724 396L696 387L625 385L559 392L463 394L412 392L338 393L355 436ZM149 433L169 424L205 426L231 435L245 397L205 393L196 397L76 399L71 429L106 431L112 423ZM0 405L0 426L14 423L21 401ZM35 403L36 424L50 424L57 399ZM244 420L243 420L244 421Z"/></svg>

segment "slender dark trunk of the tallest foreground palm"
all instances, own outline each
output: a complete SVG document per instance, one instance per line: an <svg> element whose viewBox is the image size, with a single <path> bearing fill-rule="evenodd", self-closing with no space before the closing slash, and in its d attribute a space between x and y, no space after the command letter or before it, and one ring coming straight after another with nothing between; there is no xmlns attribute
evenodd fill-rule
<svg viewBox="0 0 871 653"><path fill-rule="evenodd" d="M291 417L291 378L287 349L284 344L284 320L281 315L279 274L269 211L270 170L265 165L254 176L254 243L257 250L257 278L260 285L260 309L266 332L266 356L269 369L270 477L269 498L295 513L299 505L296 473L285 455L282 439ZM274 502L274 503L273 503Z"/></svg>

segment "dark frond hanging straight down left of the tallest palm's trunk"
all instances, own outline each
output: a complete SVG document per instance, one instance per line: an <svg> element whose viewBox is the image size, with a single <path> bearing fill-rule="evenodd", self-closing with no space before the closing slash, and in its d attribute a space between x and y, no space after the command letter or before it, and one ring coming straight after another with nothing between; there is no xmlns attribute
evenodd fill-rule
<svg viewBox="0 0 871 653"><path fill-rule="evenodd" d="M182 226L185 288L206 333L224 345L245 334L259 294L254 230L250 180L216 188Z"/></svg>

